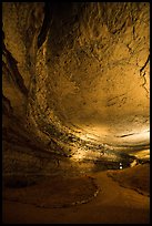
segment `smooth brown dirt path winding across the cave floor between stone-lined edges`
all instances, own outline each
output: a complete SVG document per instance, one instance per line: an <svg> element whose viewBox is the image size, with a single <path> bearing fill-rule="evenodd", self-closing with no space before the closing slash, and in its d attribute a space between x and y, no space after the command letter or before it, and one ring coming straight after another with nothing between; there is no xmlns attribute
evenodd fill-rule
<svg viewBox="0 0 152 226"><path fill-rule="evenodd" d="M144 166L143 166L144 167ZM128 170L123 170L124 173ZM134 170L133 170L134 171ZM142 166L141 166L142 171ZM150 196L121 186L110 174L88 173L99 187L98 195L85 204L44 208L32 204L3 201L4 224L149 224ZM128 171L132 172L132 168ZM142 175L142 174L141 174ZM126 179L126 177L124 177ZM134 178L135 179L135 178ZM141 176L141 182L143 177ZM133 181L133 177L132 177ZM32 187L31 187L32 189ZM43 191L44 191L43 186ZM85 191L88 185L85 186ZM44 191L45 192L45 191Z"/></svg>

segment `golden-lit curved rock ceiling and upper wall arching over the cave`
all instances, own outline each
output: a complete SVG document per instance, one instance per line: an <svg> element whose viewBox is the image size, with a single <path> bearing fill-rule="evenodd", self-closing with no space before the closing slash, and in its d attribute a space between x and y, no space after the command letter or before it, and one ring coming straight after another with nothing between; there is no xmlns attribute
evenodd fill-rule
<svg viewBox="0 0 152 226"><path fill-rule="evenodd" d="M4 138L149 145L148 2L6 2L2 32Z"/></svg>

